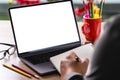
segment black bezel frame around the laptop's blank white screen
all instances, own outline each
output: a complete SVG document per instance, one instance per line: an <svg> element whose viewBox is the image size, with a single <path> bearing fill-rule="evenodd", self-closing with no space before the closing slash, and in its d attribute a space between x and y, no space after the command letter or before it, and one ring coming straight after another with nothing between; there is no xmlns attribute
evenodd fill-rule
<svg viewBox="0 0 120 80"><path fill-rule="evenodd" d="M52 47L48 47L48 48L44 48L44 49L38 49L38 50L34 50L34 51L29 51L29 52L25 52L25 53L22 53L22 54L19 53L10 10L11 9L16 9L16 8L29 7L29 6L54 4L54 3L66 2L66 1L70 1L70 3L71 3L71 7L72 7L72 10L73 10L73 16L74 16L74 19L75 19L75 24L76 24L76 29L77 29L79 41L72 42L72 43L67 43L67 44L63 44L63 45L58 45L58 46L52 46ZM77 46L81 46L80 33L79 33L78 25L77 25L76 16L75 16L75 13L74 13L74 5L73 5L72 0L56 1L56 2L50 2L50 3L41 3L41 4L34 4L34 5L22 5L22 6L10 7L8 9L8 11L9 11L9 16L10 16L10 22L11 22L12 30L13 30L14 41L15 41L16 48L17 48L17 53L18 53L18 56L20 56L20 57L28 57L28 56L33 56L33 55L38 55L38 54L43 54L43 53L49 53L49 52L53 52L53 51L57 51L57 50L62 50L62 49L65 49L65 48L68 48L68 49L70 48L71 49L71 48L75 48ZM30 54L30 53L36 53L36 54Z"/></svg>

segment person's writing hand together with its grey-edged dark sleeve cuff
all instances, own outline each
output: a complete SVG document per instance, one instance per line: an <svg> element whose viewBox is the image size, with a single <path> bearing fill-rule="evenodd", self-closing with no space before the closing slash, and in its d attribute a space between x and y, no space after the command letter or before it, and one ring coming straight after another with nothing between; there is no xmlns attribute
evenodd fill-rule
<svg viewBox="0 0 120 80"><path fill-rule="evenodd" d="M89 60L86 58L76 61L75 57L75 53L71 52L65 60L61 61L61 80L83 80Z"/></svg>

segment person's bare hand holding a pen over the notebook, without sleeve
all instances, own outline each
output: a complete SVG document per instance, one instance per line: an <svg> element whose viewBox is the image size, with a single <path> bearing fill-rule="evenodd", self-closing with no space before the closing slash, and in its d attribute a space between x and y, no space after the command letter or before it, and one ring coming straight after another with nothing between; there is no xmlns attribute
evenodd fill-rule
<svg viewBox="0 0 120 80"><path fill-rule="evenodd" d="M61 61L60 64L60 72L61 72L61 80L65 78L71 72L77 72L81 75L85 75L88 67L89 60L87 58L80 59L79 61L75 60L76 54L71 52L70 55L66 57L65 60Z"/></svg>

